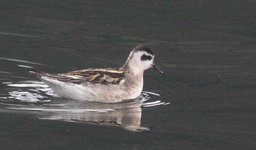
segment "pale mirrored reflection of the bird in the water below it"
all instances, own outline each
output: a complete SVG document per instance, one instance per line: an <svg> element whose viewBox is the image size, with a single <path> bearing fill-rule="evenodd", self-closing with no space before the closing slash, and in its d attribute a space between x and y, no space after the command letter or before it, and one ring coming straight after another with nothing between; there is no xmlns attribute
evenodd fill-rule
<svg viewBox="0 0 256 150"><path fill-rule="evenodd" d="M120 126L132 132L146 132L149 128L140 126L142 110L140 106L143 100L138 99L123 103L99 103L99 102L67 102L58 104L59 98L53 100L55 104L49 104L45 108L30 110L40 110L39 119L53 119L62 121L72 121L85 124ZM77 107L76 107L77 106Z"/></svg>

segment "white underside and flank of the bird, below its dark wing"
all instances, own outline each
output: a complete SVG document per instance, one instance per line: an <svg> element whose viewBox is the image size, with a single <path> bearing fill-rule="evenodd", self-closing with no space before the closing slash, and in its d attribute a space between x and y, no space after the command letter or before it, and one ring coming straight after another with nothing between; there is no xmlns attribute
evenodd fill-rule
<svg viewBox="0 0 256 150"><path fill-rule="evenodd" d="M135 99L140 95L143 87L143 84L139 87L126 88L123 83L119 85L91 83L79 85L47 77L40 79L61 97L96 102L121 102L125 99Z"/></svg>

